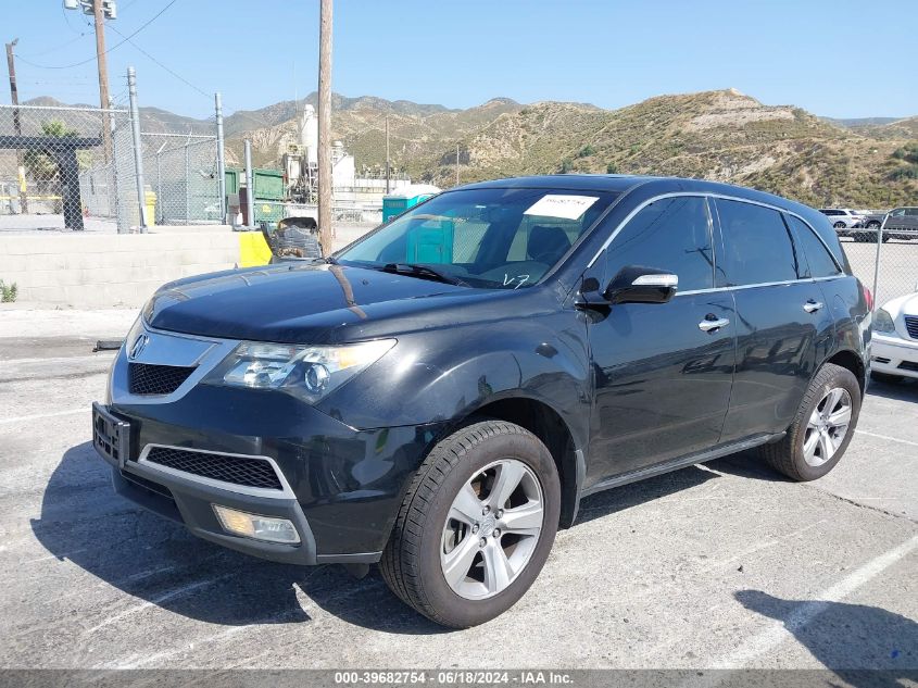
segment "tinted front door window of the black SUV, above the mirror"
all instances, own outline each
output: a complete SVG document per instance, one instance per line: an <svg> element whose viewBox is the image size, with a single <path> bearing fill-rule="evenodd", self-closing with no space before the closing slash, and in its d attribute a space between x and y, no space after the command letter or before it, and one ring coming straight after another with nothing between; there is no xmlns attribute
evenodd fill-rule
<svg viewBox="0 0 918 688"><path fill-rule="evenodd" d="M665 198L642 209L606 251L608 279L626 265L672 273L679 277L679 291L713 287L714 250L705 199Z"/></svg>

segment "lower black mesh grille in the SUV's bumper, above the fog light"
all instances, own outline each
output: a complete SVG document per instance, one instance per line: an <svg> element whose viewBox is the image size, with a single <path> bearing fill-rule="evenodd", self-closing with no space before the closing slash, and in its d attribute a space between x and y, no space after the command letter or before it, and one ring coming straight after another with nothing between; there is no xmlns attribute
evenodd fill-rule
<svg viewBox="0 0 918 688"><path fill-rule="evenodd" d="M271 462L257 456L228 456L187 449L153 447L147 455L147 461L232 485L269 490L284 489Z"/></svg>

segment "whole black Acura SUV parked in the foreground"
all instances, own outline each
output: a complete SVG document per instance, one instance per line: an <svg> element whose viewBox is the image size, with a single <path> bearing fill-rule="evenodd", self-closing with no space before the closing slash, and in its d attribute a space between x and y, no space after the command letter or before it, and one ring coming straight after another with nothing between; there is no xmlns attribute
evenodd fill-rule
<svg viewBox="0 0 918 688"><path fill-rule="evenodd" d="M870 295L819 212L690 179L441 193L335 255L171 283L96 404L115 489L279 562L378 562L481 623L599 490L757 447L828 473Z"/></svg>

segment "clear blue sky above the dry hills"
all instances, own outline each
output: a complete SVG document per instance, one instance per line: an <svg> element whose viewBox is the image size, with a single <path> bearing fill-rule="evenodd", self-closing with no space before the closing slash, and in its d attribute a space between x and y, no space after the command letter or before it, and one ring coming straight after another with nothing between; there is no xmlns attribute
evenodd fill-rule
<svg viewBox="0 0 918 688"><path fill-rule="evenodd" d="M118 0L111 48L169 0ZM91 26L61 0L0 0L20 38L21 100L98 102ZM918 1L337 0L332 87L468 108L494 97L619 108L734 87L838 117L918 114ZM175 0L133 40L212 93L255 109L315 90L318 0ZM42 66L35 66L42 65ZM109 53L113 96L134 65L143 105L212 114L204 96L130 43ZM5 82L5 79L4 79ZM9 102L5 87L0 102Z"/></svg>

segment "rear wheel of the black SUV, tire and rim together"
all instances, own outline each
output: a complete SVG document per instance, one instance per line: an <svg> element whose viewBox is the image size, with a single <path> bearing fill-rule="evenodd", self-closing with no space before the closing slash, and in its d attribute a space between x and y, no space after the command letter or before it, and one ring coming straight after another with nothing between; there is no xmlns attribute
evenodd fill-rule
<svg viewBox="0 0 918 688"><path fill-rule="evenodd" d="M760 454L793 480L815 480L839 463L860 414L860 385L847 368L825 364L803 396L787 435Z"/></svg>

